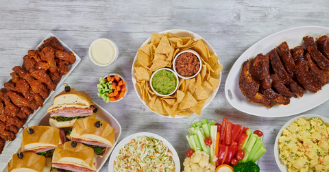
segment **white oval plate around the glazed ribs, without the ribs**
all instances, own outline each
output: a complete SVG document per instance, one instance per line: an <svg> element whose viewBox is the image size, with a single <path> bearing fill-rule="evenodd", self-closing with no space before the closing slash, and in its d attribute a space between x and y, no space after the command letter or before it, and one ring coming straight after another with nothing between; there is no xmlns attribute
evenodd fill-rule
<svg viewBox="0 0 329 172"><path fill-rule="evenodd" d="M306 92L303 97L298 97L297 99L291 98L291 102L287 106L276 105L272 108L266 108L255 103L250 103L241 93L239 88L241 65L245 60L256 57L258 53L269 53L269 51L284 41L287 41L289 48L303 45L303 37L306 35L313 36L314 38L329 35L329 28L317 26L295 27L271 34L270 36L256 42L252 47L249 47L249 49L247 49L238 60L236 60L230 73L228 73L225 84L225 95L228 102L230 102L230 104L237 110L247 114L265 117L281 117L305 112L306 110L315 108L321 103L327 101L329 99L329 84L322 87L322 90L318 93L313 94ZM229 90L230 93L232 93L232 99L230 99Z"/></svg>

